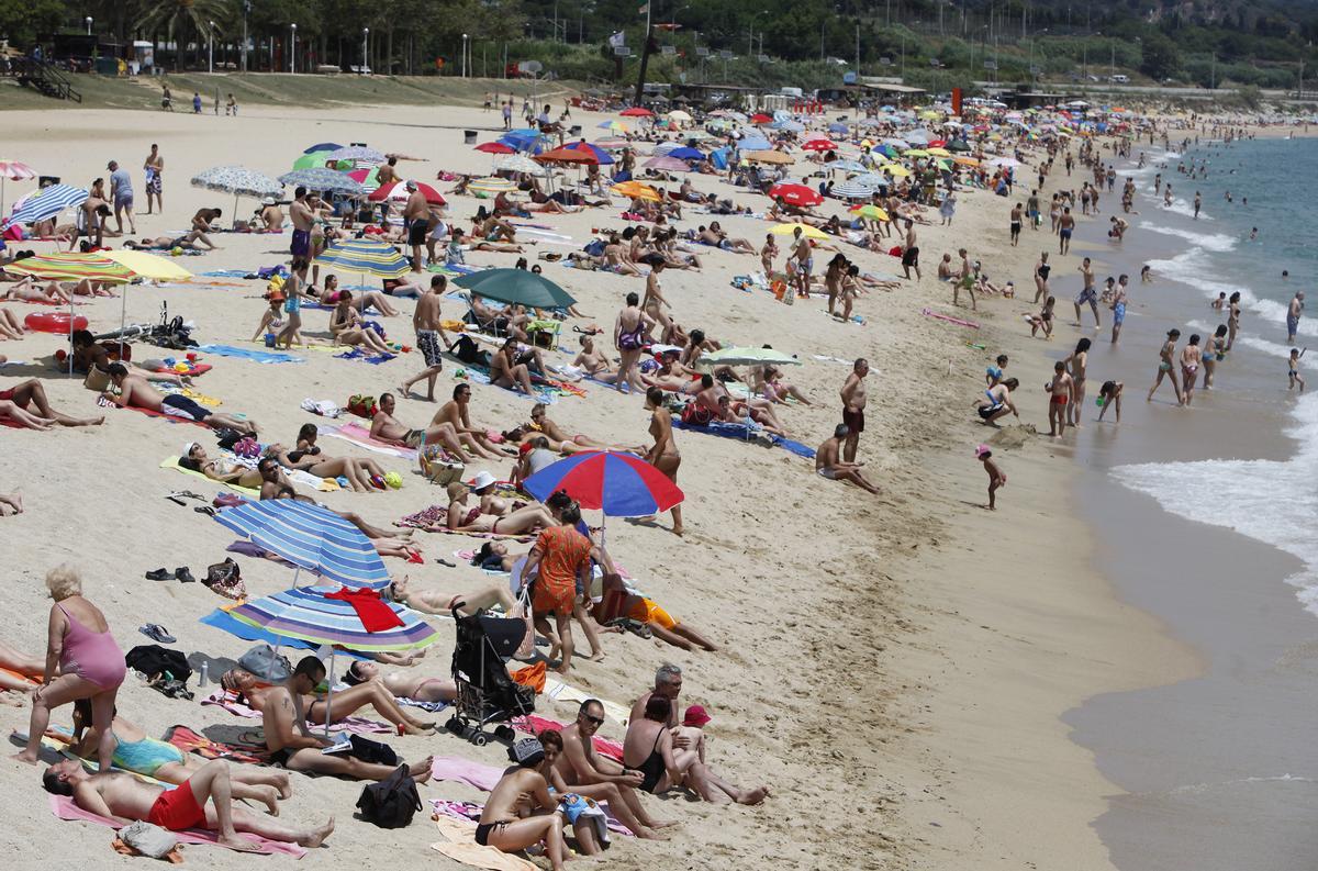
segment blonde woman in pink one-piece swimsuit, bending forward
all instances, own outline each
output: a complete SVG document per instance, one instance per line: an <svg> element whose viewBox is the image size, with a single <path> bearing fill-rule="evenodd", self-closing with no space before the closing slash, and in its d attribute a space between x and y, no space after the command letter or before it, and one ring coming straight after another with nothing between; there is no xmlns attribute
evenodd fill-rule
<svg viewBox="0 0 1318 871"><path fill-rule="evenodd" d="M124 651L109 634L100 609L82 596L82 577L69 565L46 573L46 586L55 605L47 627L46 671L41 687L32 693L32 722L28 746L14 759L37 764L41 737L50 723L50 712L79 698L91 701L92 725L100 733L98 745L101 771L109 771L115 754L115 696L124 683ZM58 673L55 676L58 664Z"/></svg>

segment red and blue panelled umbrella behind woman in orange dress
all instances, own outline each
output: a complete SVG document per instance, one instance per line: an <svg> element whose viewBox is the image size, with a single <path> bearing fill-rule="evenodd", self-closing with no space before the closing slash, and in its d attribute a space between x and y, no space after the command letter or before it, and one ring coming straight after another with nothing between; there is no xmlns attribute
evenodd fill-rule
<svg viewBox="0 0 1318 871"><path fill-rule="evenodd" d="M583 509L602 510L605 517L650 517L685 498L663 472L617 451L575 453L540 469L522 488L542 502L563 490Z"/></svg>

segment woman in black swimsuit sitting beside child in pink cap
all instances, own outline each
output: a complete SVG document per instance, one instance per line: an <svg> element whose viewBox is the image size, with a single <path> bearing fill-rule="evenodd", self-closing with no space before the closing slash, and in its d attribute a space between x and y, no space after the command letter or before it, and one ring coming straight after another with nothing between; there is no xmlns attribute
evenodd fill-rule
<svg viewBox="0 0 1318 871"><path fill-rule="evenodd" d="M651 694L643 716L633 718L622 742L622 764L642 775L639 789L663 795L685 787L710 804L758 805L768 797L768 787L742 789L720 779L700 760L696 747L675 750L668 727L672 704L664 696Z"/></svg>

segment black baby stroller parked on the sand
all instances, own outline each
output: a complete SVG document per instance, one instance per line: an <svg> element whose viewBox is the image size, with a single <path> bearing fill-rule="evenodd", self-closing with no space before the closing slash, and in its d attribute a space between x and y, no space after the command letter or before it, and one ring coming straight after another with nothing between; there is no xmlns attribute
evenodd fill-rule
<svg viewBox="0 0 1318 871"><path fill-rule="evenodd" d="M507 676L505 663L517 652L526 636L525 619L507 619L489 614L463 617L453 610L457 644L453 648L453 683L457 698L447 727L468 738L477 747L489 742L484 730L489 723L506 723L535 710L535 690ZM501 725L494 737L513 739L513 730Z"/></svg>

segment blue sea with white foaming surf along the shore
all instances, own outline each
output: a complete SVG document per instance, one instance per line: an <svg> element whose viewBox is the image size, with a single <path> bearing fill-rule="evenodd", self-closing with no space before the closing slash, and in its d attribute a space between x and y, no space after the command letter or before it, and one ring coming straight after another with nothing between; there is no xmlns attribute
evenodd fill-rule
<svg viewBox="0 0 1318 871"><path fill-rule="evenodd" d="M1240 293L1242 328L1228 361L1242 377L1224 378L1226 364L1219 365L1218 389L1251 390L1268 402L1275 397L1286 414L1285 435L1296 447L1282 461L1141 463L1119 465L1111 473L1166 511L1297 556L1305 568L1288 580L1301 604L1318 615L1318 199L1313 196L1318 140L1202 142L1184 155L1153 149L1148 154L1149 165L1132 173L1145 196L1139 198L1144 213L1130 219L1131 233L1176 241L1176 248L1164 246L1166 256L1149 261L1156 277L1191 287L1206 302L1220 293ZM1189 179L1177 173L1182 159L1195 165L1207 159L1209 177ZM1165 169L1155 166L1160 162ZM1173 184L1172 208L1161 207L1161 196L1153 198L1159 171L1164 183ZM1202 195L1199 220L1193 220L1195 191ZM1178 253L1170 253L1177 248ZM1289 278L1282 278L1282 270ZM1310 393L1304 395L1285 390L1285 315L1297 290L1307 291L1310 310L1301 319L1296 344L1313 345L1300 366L1309 376ZM1224 312L1205 306L1191 312L1186 327L1210 335L1224 320ZM1182 347L1188 337L1182 335Z"/></svg>

